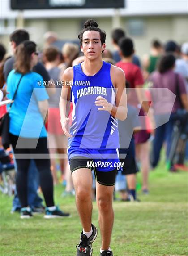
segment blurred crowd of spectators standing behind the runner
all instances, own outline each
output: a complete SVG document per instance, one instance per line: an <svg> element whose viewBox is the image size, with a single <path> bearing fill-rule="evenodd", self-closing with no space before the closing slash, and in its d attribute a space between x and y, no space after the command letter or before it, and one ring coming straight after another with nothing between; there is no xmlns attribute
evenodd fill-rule
<svg viewBox="0 0 188 256"><path fill-rule="evenodd" d="M21 211L22 218L28 212L32 216L32 212L44 211L46 218L69 216L53 199L54 185L59 182L66 183L63 196L74 195L59 100L64 70L81 63L84 57L75 42L58 48L54 32L47 32L44 39L39 53L26 30L14 31L10 35L11 57L0 44L0 101L12 99L19 86L10 110L9 133L17 171L12 211ZM153 40L150 53L141 59L124 30L113 30L111 41L114 50L107 48L103 60L123 69L128 94L128 117L118 123L124 167L118 172L115 191L120 192L121 201L139 201L137 172L142 173L142 193L150 193L149 173L158 165L162 146L166 148L166 161L169 159L175 115L179 109L188 111L188 42L178 45L175 41ZM6 111L6 106L0 107L1 116ZM71 111L68 116L71 118ZM174 166L170 169L175 170ZM46 208L38 195L39 186Z"/></svg>

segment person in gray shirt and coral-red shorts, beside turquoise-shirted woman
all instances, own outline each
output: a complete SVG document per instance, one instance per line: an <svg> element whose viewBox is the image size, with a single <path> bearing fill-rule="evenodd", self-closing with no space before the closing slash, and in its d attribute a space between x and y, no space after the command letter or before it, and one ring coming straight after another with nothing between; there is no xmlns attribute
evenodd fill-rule
<svg viewBox="0 0 188 256"><path fill-rule="evenodd" d="M51 156L51 171L53 175L54 184L58 183L56 160L53 158L53 154L59 153L60 155L67 154L68 139L64 135L64 132L60 123L60 110L59 102L63 81L61 77L63 75L63 69L59 68L59 51L54 46L49 46L43 50L43 58L45 59L45 67L50 78L54 81L56 92L51 95L48 103L48 147ZM65 86L65 85L64 85ZM66 188L64 194L74 194L73 182L71 177L71 171L66 158L60 157L60 171L63 178L66 180Z"/></svg>

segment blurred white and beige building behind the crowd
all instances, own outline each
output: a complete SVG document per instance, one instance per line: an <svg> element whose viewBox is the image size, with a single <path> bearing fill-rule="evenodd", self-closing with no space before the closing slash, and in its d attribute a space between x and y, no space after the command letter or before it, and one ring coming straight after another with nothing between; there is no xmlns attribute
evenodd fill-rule
<svg viewBox="0 0 188 256"><path fill-rule="evenodd" d="M62 1L62 0L61 0ZM133 38L137 54L148 53L156 38L163 43L188 41L188 0L125 0L120 9L40 9L13 11L10 0L0 0L0 40L8 46L9 33L18 27L30 32L31 40L43 47L43 34L55 31L62 40L77 39L83 21L95 19L107 33L111 45L111 29L123 28Z"/></svg>

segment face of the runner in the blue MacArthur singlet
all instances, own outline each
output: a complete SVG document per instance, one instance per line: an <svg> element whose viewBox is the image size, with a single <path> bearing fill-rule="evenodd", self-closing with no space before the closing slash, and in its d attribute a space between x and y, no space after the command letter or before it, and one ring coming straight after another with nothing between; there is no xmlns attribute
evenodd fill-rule
<svg viewBox="0 0 188 256"><path fill-rule="evenodd" d="M98 31L85 31L81 45L81 51L85 57L94 60L101 57L102 51L106 45L101 45L101 37Z"/></svg>

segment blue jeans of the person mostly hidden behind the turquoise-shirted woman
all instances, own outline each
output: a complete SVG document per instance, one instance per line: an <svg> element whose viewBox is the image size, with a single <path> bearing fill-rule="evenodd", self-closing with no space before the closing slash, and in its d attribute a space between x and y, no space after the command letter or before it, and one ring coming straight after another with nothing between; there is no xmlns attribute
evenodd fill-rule
<svg viewBox="0 0 188 256"><path fill-rule="evenodd" d="M16 161L15 161L15 170L17 171ZM43 199L40 198L37 193L38 185L39 185L38 170L36 168L34 160L31 159L29 171L28 171L28 188L27 188L28 204L31 208L42 206ZM12 211L15 211L17 208L21 208L21 204L17 196L17 191L15 189Z"/></svg>

